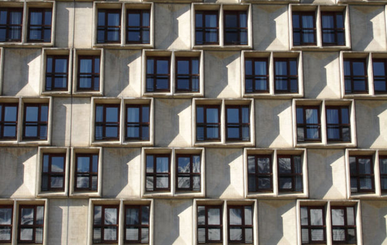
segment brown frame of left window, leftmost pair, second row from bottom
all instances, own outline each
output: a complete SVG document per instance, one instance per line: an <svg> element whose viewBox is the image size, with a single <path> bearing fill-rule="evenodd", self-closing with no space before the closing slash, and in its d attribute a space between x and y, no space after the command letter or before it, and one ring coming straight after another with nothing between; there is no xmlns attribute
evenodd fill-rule
<svg viewBox="0 0 387 245"><path fill-rule="evenodd" d="M48 172L44 172L44 157L48 156ZM52 172L52 158L53 157L63 157L63 172ZM40 183L40 188L42 191L65 191L65 183L66 183L66 153L43 153L42 158L42 176L41 180L43 180L43 176L47 176L47 190L43 190L43 181ZM63 183L62 187L54 188L51 187L51 177L62 177Z"/></svg>

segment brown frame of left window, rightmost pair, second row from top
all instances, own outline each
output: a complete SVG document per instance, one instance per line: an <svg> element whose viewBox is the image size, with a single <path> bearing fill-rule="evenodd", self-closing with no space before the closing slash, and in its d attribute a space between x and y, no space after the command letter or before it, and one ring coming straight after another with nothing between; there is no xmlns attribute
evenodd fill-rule
<svg viewBox="0 0 387 245"><path fill-rule="evenodd" d="M350 71L349 73L351 75L345 75L345 63L346 62L349 62L350 63ZM364 76L360 76L360 75L353 75L353 62L361 62L363 63L364 65ZM348 58L344 58L343 60L343 64L344 64L344 91L345 91L345 94L368 94L368 74L367 74L367 62L366 62L366 58L351 58L351 59L348 59ZM358 80L358 79L363 79L364 80L364 87L366 88L366 90L354 90L354 80ZM345 88L345 81L346 80L350 80L351 81L351 90L348 90L347 88Z"/></svg>

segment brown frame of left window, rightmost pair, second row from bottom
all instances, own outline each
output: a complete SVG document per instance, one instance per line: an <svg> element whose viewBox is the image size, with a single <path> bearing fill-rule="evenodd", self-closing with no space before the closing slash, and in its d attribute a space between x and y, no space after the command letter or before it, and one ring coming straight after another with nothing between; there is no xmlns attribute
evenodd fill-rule
<svg viewBox="0 0 387 245"><path fill-rule="evenodd" d="M351 161L349 161L349 169L350 169L350 189L352 194L357 194L357 193L375 193L375 174L373 171L373 159L371 155L350 155L349 158L355 158L355 164L356 164L356 173L353 174L351 173ZM368 159L370 162L370 173L369 174L363 174L359 172L359 159ZM361 189L360 188L360 180L365 177L370 177L371 178L371 189ZM356 178L356 186L357 186L357 191L352 191L352 186L351 186L351 180L352 178Z"/></svg>

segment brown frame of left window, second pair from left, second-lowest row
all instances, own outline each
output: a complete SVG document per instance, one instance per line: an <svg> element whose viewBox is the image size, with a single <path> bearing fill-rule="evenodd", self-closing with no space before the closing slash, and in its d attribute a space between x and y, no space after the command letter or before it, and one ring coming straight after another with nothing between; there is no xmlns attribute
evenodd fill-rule
<svg viewBox="0 0 387 245"><path fill-rule="evenodd" d="M145 169L146 169L146 159L147 156L153 156L153 172L149 173L145 171L145 191L146 192L158 192L158 191L170 191L171 190L171 154L146 154L145 155ZM168 158L168 173L166 172L156 172L157 170L157 158L158 157L167 157ZM168 176L168 187L167 188L158 188L157 187L157 178L158 177L166 177ZM146 178L153 177L153 190L149 190L146 188Z"/></svg>

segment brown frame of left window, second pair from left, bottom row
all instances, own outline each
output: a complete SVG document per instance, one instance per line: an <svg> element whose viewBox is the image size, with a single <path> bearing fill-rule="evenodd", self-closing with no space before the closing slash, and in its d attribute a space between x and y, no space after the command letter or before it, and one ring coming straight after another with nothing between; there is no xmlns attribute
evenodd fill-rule
<svg viewBox="0 0 387 245"><path fill-rule="evenodd" d="M100 206L101 207L101 224L94 224L94 217L95 217L95 207L98 207ZM105 209L116 209L117 210L117 216L116 216L116 220L117 220L117 224L116 225L106 225L105 224ZM101 243L101 244L117 244L118 243L118 231L119 231L119 224L120 224L120 205L99 205L99 204L94 204L93 206L93 233L92 233L92 241L93 241L93 244L94 243ZM110 227L115 227L116 228L116 240L104 240L104 233L105 233L105 229L107 228L110 228ZM94 229L95 228L99 228L101 229L101 241L99 242L95 242L94 241Z"/></svg>

